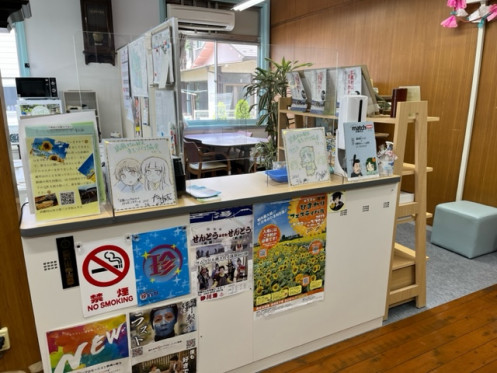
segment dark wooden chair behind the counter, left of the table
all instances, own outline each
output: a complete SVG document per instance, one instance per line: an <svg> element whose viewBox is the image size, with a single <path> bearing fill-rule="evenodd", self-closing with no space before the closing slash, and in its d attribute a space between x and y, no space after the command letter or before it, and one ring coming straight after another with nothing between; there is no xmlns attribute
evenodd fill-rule
<svg viewBox="0 0 497 373"><path fill-rule="evenodd" d="M185 165L188 174L202 175L210 173L211 176L218 171L231 173L231 163L225 154L204 152L194 142L184 141Z"/></svg>

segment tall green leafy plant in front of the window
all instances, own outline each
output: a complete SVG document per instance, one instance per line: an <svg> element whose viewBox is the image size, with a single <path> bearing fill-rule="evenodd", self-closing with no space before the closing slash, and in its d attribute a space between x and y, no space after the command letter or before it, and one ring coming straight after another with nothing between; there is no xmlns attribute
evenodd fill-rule
<svg viewBox="0 0 497 373"><path fill-rule="evenodd" d="M268 135L268 142L258 143L255 151L266 169L271 169L273 161L276 160L278 144L278 98L286 97L288 80L286 74L301 67L311 66L310 63L301 63L298 61L287 61L285 57L281 62L275 62L266 58L269 69L257 67L252 82L245 88L245 98L255 95L258 102L250 107L252 110L255 106L259 107L259 117L256 121L257 126L265 125Z"/></svg>

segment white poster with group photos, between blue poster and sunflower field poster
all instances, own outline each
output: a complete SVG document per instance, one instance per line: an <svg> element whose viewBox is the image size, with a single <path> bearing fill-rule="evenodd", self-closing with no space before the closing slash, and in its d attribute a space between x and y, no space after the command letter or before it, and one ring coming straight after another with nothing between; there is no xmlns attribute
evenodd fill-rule
<svg viewBox="0 0 497 373"><path fill-rule="evenodd" d="M192 278L200 301L249 289L253 221L252 206L190 215L190 248L196 253Z"/></svg>

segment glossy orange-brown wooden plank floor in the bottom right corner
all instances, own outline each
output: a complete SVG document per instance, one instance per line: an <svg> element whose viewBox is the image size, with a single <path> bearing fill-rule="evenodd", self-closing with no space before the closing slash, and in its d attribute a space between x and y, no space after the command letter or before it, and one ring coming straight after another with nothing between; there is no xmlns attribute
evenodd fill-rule
<svg viewBox="0 0 497 373"><path fill-rule="evenodd" d="M497 285L264 373L497 372Z"/></svg>

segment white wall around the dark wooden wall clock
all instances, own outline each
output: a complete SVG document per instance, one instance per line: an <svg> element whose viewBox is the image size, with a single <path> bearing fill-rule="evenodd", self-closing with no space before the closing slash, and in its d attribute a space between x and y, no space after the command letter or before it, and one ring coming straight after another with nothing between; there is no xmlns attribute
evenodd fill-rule
<svg viewBox="0 0 497 373"><path fill-rule="evenodd" d="M112 2L116 47L121 40L129 42L159 24L158 1ZM85 65L79 1L31 0L30 6L32 17L26 19L25 27L31 76L57 78L61 97L65 90L95 91L102 136L122 133L119 68L107 63Z"/></svg>

